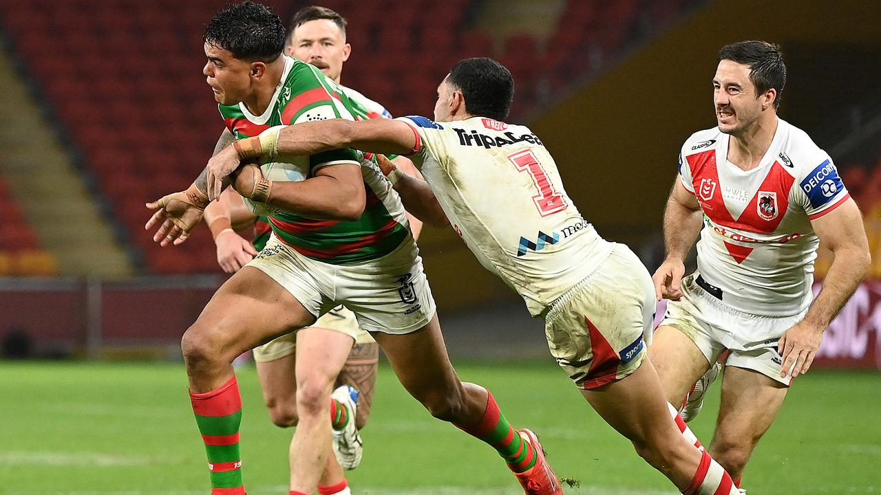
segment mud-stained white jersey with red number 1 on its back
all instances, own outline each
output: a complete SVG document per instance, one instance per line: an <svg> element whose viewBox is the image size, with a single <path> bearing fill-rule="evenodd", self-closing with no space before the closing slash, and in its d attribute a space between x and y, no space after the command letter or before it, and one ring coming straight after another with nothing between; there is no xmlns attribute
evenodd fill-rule
<svg viewBox="0 0 881 495"><path fill-rule="evenodd" d="M416 132L410 158L455 232L533 316L611 253L614 245L581 217L551 154L528 128L484 117L399 120Z"/></svg>

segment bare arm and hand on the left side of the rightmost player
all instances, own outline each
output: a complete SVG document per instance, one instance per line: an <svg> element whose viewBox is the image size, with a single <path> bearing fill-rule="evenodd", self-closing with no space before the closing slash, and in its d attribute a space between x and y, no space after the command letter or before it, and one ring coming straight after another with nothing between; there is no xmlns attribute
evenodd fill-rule
<svg viewBox="0 0 881 495"><path fill-rule="evenodd" d="M685 256L698 239L703 214L700 203L677 177L663 212L663 240L666 256L655 271L655 296L658 300L682 297L681 282L685 275Z"/></svg>

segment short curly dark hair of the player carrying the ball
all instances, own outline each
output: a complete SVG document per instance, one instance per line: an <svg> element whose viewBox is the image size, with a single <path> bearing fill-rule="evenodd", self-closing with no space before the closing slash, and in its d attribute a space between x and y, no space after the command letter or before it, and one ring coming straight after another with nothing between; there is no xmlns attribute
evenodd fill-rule
<svg viewBox="0 0 881 495"><path fill-rule="evenodd" d="M269 7L254 2L231 4L219 11L202 39L248 62L274 62L285 49L285 26Z"/></svg>

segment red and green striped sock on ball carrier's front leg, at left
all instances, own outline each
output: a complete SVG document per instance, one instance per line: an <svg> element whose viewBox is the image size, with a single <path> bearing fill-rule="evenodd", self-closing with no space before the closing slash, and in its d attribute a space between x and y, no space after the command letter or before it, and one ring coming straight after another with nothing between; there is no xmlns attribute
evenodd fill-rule
<svg viewBox="0 0 881 495"><path fill-rule="evenodd" d="M241 395L235 375L217 390L204 394L190 392L189 400L208 454L211 495L245 495L239 454Z"/></svg>

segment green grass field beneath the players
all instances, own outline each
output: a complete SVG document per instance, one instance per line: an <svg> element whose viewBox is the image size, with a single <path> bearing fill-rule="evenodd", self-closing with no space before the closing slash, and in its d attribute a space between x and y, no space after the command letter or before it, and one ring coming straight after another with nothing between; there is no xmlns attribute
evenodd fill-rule
<svg viewBox="0 0 881 495"><path fill-rule="evenodd" d="M675 494L605 425L549 358L460 364L515 426L541 435L569 494ZM287 493L290 430L270 424L255 371L238 372L244 477L251 495ZM0 493L204 495L208 470L182 365L0 363ZM522 493L490 447L430 417L381 368L355 494ZM708 443L716 385L692 429ZM759 444L750 495L881 493L881 375L814 371L798 380Z"/></svg>

